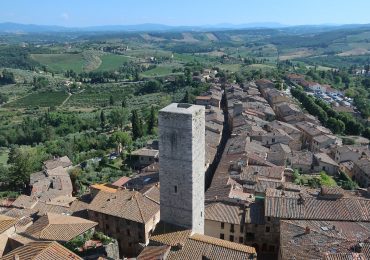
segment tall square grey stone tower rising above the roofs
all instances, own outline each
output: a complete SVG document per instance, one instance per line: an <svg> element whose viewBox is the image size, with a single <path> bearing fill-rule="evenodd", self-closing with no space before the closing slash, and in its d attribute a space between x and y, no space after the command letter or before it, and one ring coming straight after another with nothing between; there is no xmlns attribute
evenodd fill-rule
<svg viewBox="0 0 370 260"><path fill-rule="evenodd" d="M161 220L204 233L205 111L173 103L159 111Z"/></svg>

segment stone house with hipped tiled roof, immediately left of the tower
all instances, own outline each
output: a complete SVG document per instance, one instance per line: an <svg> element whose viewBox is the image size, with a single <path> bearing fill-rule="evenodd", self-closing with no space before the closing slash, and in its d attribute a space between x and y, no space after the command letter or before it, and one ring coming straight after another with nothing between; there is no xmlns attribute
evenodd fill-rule
<svg viewBox="0 0 370 260"><path fill-rule="evenodd" d="M117 239L121 257L137 256L149 243L160 219L158 187L145 193L101 190L90 203L88 213L89 219L98 223L98 231Z"/></svg>

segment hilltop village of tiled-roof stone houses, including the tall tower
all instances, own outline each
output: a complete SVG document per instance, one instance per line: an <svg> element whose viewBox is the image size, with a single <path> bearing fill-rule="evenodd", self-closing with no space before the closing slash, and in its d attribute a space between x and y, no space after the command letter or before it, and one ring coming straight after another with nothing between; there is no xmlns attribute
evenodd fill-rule
<svg viewBox="0 0 370 260"><path fill-rule="evenodd" d="M212 83L195 104L160 110L158 140L132 152L134 178L77 198L79 166L45 161L29 194L2 201L1 259L369 259L369 141L346 144L295 89L356 113L351 100L299 75L280 90L215 73L193 79Z"/></svg>

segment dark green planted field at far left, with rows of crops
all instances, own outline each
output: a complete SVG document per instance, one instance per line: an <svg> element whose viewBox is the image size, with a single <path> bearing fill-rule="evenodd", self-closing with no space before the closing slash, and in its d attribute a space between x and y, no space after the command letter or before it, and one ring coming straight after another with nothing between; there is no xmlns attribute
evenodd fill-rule
<svg viewBox="0 0 370 260"><path fill-rule="evenodd" d="M4 107L52 107L59 106L68 97L65 92L41 92L32 93L31 95L17 99L6 104Z"/></svg>

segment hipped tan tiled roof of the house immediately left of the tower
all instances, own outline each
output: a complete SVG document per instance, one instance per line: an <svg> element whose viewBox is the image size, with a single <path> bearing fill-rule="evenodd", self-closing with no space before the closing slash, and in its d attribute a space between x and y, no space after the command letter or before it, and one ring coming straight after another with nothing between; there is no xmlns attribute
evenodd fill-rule
<svg viewBox="0 0 370 260"><path fill-rule="evenodd" d="M159 212L159 203L137 191L99 191L90 203L89 210L146 223Z"/></svg>

